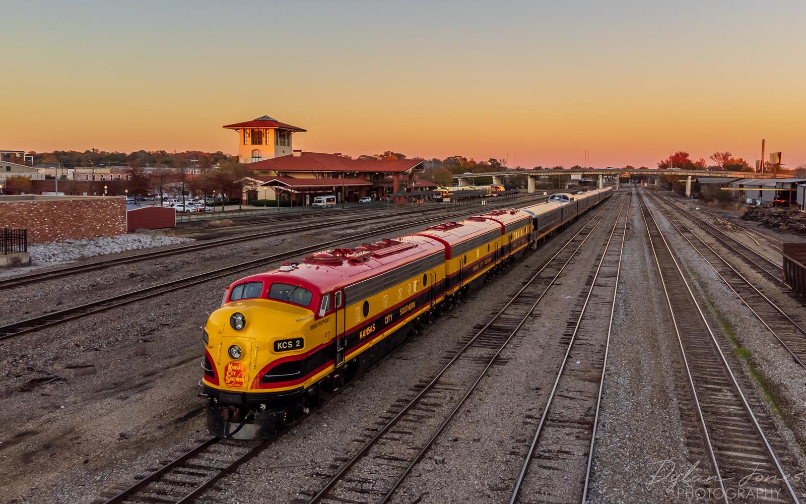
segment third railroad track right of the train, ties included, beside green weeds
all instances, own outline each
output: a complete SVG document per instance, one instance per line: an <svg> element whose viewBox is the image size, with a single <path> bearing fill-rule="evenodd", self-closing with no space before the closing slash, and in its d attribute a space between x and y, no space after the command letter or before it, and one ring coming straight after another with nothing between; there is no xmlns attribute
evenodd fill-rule
<svg viewBox="0 0 806 504"><path fill-rule="evenodd" d="M711 495L725 504L748 492L752 502L799 503L786 477L793 472L765 434L775 425L754 413L643 196L640 206L713 471Z"/></svg>

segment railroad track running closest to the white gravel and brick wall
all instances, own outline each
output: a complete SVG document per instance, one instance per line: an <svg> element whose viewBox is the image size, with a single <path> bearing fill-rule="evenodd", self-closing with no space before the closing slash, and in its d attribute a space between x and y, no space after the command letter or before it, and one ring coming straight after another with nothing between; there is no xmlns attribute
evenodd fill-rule
<svg viewBox="0 0 806 504"><path fill-rule="evenodd" d="M538 197L534 198L537 201L545 199L545 197ZM527 199L525 202L531 202L531 199ZM511 206L513 202L505 202L504 204L499 205L492 205L490 209L500 208L502 206ZM33 283L37 283L39 281L46 281L46 280L53 280L55 278L60 277L68 277L70 275L75 275L78 273L86 273L89 271L95 271L98 269L108 268L110 266L118 266L120 264L130 264L139 262L141 260L149 260L149 259L157 259L160 257L166 256L174 256L177 254L183 254L187 252L197 252L200 250L206 250L207 248L215 248L221 247L223 245L230 245L230 244L239 244L241 242L250 241L250 240L260 240L262 238L270 238L272 236L280 236L280 235L288 235L292 233L298 233L301 231L310 231L316 229L322 229L322 227L334 227L339 226L342 224L355 224L361 223L364 220L372 220L376 221L377 219L393 219L396 217L400 217L401 215L409 215L409 214L417 214L417 213L430 213L438 210L446 210L440 207L434 207L429 209L416 209L416 210L405 210L405 211L398 211L392 213L384 213L383 215L367 215L364 213L364 219L356 220L355 217L351 217L348 219L337 219L337 220L328 220L322 222L321 220L316 223L311 224L304 224L304 225L297 225L290 228L285 229L275 229L272 231L261 231L258 233L250 233L248 235L242 236L234 236L231 238L222 238L218 240L209 240L201 243L195 244L187 244L181 245L179 247L168 248L168 249L160 249L154 250L150 252L140 252L137 254L133 254L131 256L125 257L114 257L110 259L104 260L96 260L90 263L84 264L73 264L70 266L65 266L59 269L51 269L48 271L41 271L41 272L33 272L27 273L26 275L22 275L19 277L10 277L10 278L3 278L0 279L0 289L13 289L15 287L19 287L21 285L30 285ZM487 211L487 210L481 210ZM301 217L301 216L297 216ZM283 225L285 220L280 220L277 225Z"/></svg>

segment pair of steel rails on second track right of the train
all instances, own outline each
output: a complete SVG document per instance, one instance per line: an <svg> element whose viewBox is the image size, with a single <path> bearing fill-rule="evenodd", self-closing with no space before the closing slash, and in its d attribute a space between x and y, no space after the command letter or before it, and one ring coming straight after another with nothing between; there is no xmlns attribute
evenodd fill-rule
<svg viewBox="0 0 806 504"><path fill-rule="evenodd" d="M629 215L629 200L626 203L627 211L625 214L625 221L624 221L624 231L621 235L621 245L623 250L623 244L625 237L627 235L627 220L626 216ZM580 314L577 316L576 323L574 326L574 331L571 333L571 339L568 341L568 346L565 350L565 355L563 356L562 361L560 362L559 369L557 370L557 376L555 377L554 384L551 385L551 391L549 393L549 397L546 399L546 406L543 407L543 412L540 416L540 421L538 422L538 428L534 432L534 436L532 437L532 443L529 446L529 451L526 452L526 458L523 461L523 467L521 468L521 473L518 474L517 480L515 481L515 487L512 491L512 497L509 499L509 504L515 504L518 501L518 497L521 493L521 486L523 482L526 480L526 474L529 472L530 462L532 461L532 456L534 455L534 450L538 446L538 442L540 439L540 435L543 432L543 426L546 424L546 419L548 418L549 410L553 405L555 394L557 393L557 389L559 389L559 382L563 377L563 373L565 372L565 366L568 363L568 356L571 355L571 349L574 348L574 343L576 341L576 335L579 334L580 326L582 325L582 320L584 319L585 312L588 310L588 302L591 300L591 296L593 294L593 290L596 288L596 280L599 278L599 273L601 272L602 265L605 264L605 257L607 257L607 252L610 248L610 242L613 241L613 235L616 234L616 229L618 227L618 223L621 220L621 212L624 210L624 205L622 205L621 209L619 210L619 214L613 223L613 229L610 230L610 235L608 236L607 243L605 243L605 251L602 252L602 256L600 257L599 264L596 265L596 273L593 274L593 279L591 281L591 286L588 288L588 293L585 295L585 301L580 309ZM619 260L618 260L618 270L621 270L621 251L619 252ZM618 283L616 283L615 288L618 288ZM616 304L616 293L613 293L613 307ZM610 313L610 323L613 323L613 308L611 308ZM610 339L610 327L608 327L607 333L607 343L609 344ZM599 404L601 400L601 390L602 385L604 384L605 380L605 369L607 365L607 351L605 350L605 365L602 367L602 373L600 377L600 384L599 384L599 396L596 400L596 417L598 418L599 414ZM593 438L591 438L591 447L589 453L592 454L593 452ZM588 477L585 478L585 488L587 489L587 481ZM583 498L584 502L584 498Z"/></svg>

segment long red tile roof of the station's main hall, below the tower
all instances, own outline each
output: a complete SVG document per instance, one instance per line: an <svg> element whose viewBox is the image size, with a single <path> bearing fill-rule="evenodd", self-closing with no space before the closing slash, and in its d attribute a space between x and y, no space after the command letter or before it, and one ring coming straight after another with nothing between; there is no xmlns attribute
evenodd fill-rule
<svg viewBox="0 0 806 504"><path fill-rule="evenodd" d="M248 163L247 169L273 172L362 172L405 173L422 165L422 160L354 160L324 152L302 152Z"/></svg>

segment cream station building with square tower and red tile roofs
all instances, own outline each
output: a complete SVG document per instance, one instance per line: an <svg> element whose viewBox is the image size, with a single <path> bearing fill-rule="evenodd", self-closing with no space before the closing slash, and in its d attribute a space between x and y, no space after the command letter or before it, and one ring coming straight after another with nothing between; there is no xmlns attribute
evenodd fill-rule
<svg viewBox="0 0 806 504"><path fill-rule="evenodd" d="M251 172L244 203L280 199L310 205L320 195L355 202L436 187L417 177L425 172L422 160L354 160L340 153L302 152L293 148L292 136L306 130L268 115L224 127L238 131L239 160Z"/></svg>

